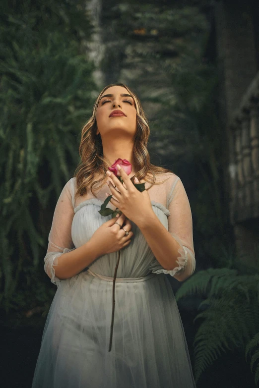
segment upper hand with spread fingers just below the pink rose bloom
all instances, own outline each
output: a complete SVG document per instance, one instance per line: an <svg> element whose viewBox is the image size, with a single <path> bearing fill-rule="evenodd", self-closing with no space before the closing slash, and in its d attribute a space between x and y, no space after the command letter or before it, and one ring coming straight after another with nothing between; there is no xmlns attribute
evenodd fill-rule
<svg viewBox="0 0 259 388"><path fill-rule="evenodd" d="M121 210L129 220L138 226L140 226L144 220L147 221L150 216L154 216L147 190L142 192L138 191L123 168L119 169L118 175L122 177L126 187L112 171L106 171L106 173L114 184L107 181L111 194L113 195L113 198L110 199L112 205ZM139 182L135 180L135 183ZM114 186L116 186L117 189Z"/></svg>

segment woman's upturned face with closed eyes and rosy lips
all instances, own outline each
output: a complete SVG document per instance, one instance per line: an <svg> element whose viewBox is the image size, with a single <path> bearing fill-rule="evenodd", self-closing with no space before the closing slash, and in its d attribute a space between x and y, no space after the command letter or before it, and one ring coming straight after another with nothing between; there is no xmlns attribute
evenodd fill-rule
<svg viewBox="0 0 259 388"><path fill-rule="evenodd" d="M106 96L107 94L112 96ZM127 94L127 96L121 96ZM129 136L133 138L137 129L136 106L133 97L123 86L112 86L106 89L99 101L96 111L97 131L101 137L105 136ZM120 110L125 116L111 116L110 113Z"/></svg>

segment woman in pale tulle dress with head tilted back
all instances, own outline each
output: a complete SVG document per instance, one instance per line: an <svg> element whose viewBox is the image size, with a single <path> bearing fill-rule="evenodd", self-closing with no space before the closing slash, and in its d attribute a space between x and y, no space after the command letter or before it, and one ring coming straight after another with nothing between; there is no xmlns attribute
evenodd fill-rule
<svg viewBox="0 0 259 388"><path fill-rule="evenodd" d="M148 137L136 95L124 84L105 87L82 129L82 163L65 184L53 217L44 269L58 289L33 388L195 387L165 276L183 281L194 273L192 213L181 179L150 164ZM106 173L118 158L132 166L129 176L118 172L123 184ZM144 191L135 188L137 182L145 182ZM100 215L106 193L113 195L108 207L119 209L120 217Z"/></svg>

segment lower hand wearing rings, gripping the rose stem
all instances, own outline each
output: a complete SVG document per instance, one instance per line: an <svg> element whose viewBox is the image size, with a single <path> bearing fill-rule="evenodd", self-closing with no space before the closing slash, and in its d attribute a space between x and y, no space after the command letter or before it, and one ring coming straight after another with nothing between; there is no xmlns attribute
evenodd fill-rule
<svg viewBox="0 0 259 388"><path fill-rule="evenodd" d="M115 217L107 222L104 222L94 232L91 240L94 241L96 247L98 247L98 257L107 253L117 252L129 245L133 232L131 231L131 224L129 220L125 220L126 216L122 213L120 217ZM122 225L122 228L115 222ZM124 229L129 232L128 236L126 236Z"/></svg>

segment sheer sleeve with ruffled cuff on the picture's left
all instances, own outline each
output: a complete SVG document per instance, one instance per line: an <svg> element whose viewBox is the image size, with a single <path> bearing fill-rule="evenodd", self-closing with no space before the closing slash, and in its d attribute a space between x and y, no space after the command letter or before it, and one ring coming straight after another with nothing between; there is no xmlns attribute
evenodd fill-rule
<svg viewBox="0 0 259 388"><path fill-rule="evenodd" d="M60 279L55 275L55 266L63 253L75 249L71 237L71 224L74 216L72 179L65 184L58 199L49 233L47 254L44 258L44 271L57 287L60 285Z"/></svg>

